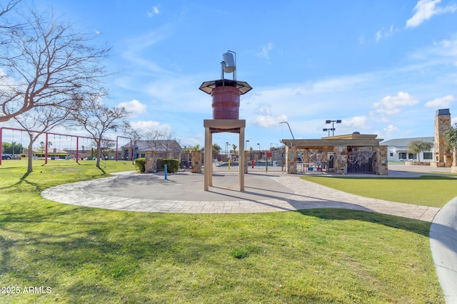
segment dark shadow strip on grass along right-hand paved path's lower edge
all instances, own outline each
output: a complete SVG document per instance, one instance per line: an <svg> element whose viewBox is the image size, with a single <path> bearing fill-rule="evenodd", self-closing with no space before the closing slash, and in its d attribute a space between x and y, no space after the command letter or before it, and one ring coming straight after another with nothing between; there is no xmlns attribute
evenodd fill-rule
<svg viewBox="0 0 457 304"><path fill-rule="evenodd" d="M319 219L330 219L337 221L356 220L368 221L373 224L380 224L391 228L411 231L422 236L429 236L431 223L428 221L420 221L418 219L408 219L401 216L393 216L388 214L379 214L375 212L367 212L360 210L348 209L306 209L296 211L305 216L314 216Z"/></svg>

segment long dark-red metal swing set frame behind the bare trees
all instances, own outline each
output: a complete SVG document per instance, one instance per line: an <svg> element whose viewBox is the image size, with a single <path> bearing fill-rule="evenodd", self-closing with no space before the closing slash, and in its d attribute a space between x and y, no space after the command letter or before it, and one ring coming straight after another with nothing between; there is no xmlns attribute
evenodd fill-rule
<svg viewBox="0 0 457 304"><path fill-rule="evenodd" d="M34 130L23 130L23 129L16 129L14 127L0 127L0 153L2 153L2 150L3 150L3 147L1 145L1 142L2 142L2 136L3 136L3 131L4 130L11 130L12 133L13 133L13 142L14 142L14 131L20 131L21 132L21 145L22 145L22 132L33 132L33 133L39 133L39 134L44 134L45 135L45 141L44 141L44 164L47 164L48 163L48 158L49 158L49 135L54 135L54 144L55 144L55 139L56 139L56 135L59 136L59 139L61 139L62 136L65 136L66 139L68 137L70 137L70 140L71 140L71 145L72 145L72 142L73 142L73 137L76 137L76 154L75 154L75 160L76 162L79 162L79 157L80 157L80 150L79 150L79 140L84 140L84 139L87 139L87 140L93 140L92 137L86 137L86 136L79 136L79 135L68 135L68 134L60 134L60 133L54 133L54 132L38 132L38 131L34 131ZM107 142L116 142L116 162L118 160L118 157L117 157L117 154L118 154L118 151L117 151L117 148L118 148L118 142L119 142L119 138L126 138L126 139L129 139L130 140L130 151L132 151L132 140L130 137L122 137L122 136L118 136L116 137L116 140L104 140L104 141L107 141ZM61 145L61 140L59 140L59 152L60 152L60 145ZM83 142L83 146L82 146L82 153L84 154L84 149L86 148L86 150L88 149L87 145L86 147L84 147L84 142ZM13 149L14 149L14 146L13 146ZM19 151L21 152L21 151ZM51 154L54 154L54 157L56 156L56 153L51 153ZM67 159L67 158L66 158ZM81 158L82 160L82 158ZM0 166L1 166L1 157L0 157Z"/></svg>

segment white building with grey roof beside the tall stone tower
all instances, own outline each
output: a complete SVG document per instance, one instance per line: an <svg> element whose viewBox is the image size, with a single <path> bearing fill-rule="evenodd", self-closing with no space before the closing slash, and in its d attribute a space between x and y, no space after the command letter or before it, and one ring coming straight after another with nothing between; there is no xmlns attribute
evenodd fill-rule
<svg viewBox="0 0 457 304"><path fill-rule="evenodd" d="M418 155L408 153L408 146L411 142L421 140L422 142L431 142L434 144L435 137L413 137L413 138L398 138L396 140L386 140L379 145L388 146L387 160L389 162L406 162L408 160L418 160ZM431 151L421 152L421 162L433 162L435 154L434 145Z"/></svg>

